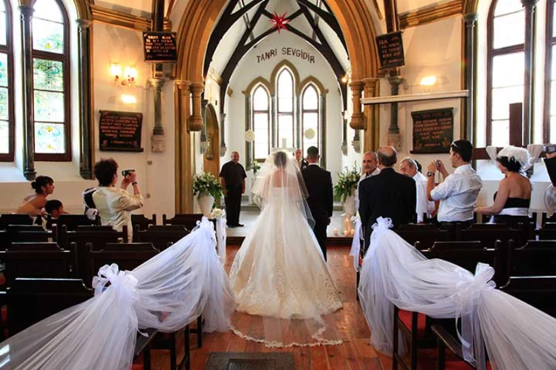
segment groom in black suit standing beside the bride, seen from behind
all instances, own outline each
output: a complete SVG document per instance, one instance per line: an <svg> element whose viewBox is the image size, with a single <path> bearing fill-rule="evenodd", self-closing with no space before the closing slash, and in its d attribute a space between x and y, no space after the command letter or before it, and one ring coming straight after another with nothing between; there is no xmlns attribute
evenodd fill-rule
<svg viewBox="0 0 556 370"><path fill-rule="evenodd" d="M332 195L332 176L330 176L329 171L320 168L318 165L319 158L320 155L318 155L316 146L309 146L306 158L309 165L306 169L303 169L302 175L307 192L309 192L307 205L309 205L313 219L315 219L313 233L326 260L326 227L330 224L334 199Z"/></svg>

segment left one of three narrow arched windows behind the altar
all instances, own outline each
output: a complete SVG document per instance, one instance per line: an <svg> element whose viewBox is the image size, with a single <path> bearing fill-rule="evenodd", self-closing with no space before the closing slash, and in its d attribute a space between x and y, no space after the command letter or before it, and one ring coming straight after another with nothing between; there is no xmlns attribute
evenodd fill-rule
<svg viewBox="0 0 556 370"><path fill-rule="evenodd" d="M254 158L265 159L270 153L270 96L259 85L253 93Z"/></svg>

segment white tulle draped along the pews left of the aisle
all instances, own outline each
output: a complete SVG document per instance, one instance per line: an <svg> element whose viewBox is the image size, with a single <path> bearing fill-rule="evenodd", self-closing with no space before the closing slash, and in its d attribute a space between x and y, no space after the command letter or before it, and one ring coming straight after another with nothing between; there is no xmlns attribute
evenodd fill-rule
<svg viewBox="0 0 556 370"><path fill-rule="evenodd" d="M213 224L203 218L193 233L133 271L105 265L93 280L93 298L2 342L0 364L129 370L138 330L172 333L200 314L203 331L229 330L234 291L215 246Z"/></svg>

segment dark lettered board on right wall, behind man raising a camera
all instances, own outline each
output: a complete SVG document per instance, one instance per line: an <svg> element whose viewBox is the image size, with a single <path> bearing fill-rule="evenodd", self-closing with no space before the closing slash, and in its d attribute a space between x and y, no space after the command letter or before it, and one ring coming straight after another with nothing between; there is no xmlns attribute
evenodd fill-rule
<svg viewBox="0 0 556 370"><path fill-rule="evenodd" d="M454 108L411 112L413 150L409 153L450 153L454 140Z"/></svg>

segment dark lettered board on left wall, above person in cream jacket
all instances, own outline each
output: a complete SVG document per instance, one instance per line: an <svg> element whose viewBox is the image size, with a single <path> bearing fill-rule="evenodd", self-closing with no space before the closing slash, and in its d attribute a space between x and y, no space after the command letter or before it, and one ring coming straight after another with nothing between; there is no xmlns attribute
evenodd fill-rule
<svg viewBox="0 0 556 370"><path fill-rule="evenodd" d="M143 114L101 110L99 148L101 151L143 151L141 126Z"/></svg>

